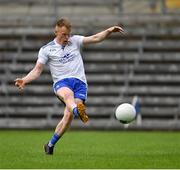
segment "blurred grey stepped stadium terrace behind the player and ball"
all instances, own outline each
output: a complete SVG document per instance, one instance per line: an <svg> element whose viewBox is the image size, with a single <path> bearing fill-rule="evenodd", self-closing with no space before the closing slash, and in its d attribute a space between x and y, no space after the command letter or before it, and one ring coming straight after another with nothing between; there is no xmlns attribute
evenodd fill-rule
<svg viewBox="0 0 180 170"><path fill-rule="evenodd" d="M138 96L142 124L129 128L180 129L178 9L168 13L166 1L136 2L0 0L0 128L52 128L62 117L47 67L23 92L14 79L30 71L39 48L53 38L54 22L65 16L77 34L91 35L114 24L127 31L84 48L91 120L84 126L76 119L73 128L122 129L115 108Z"/></svg>

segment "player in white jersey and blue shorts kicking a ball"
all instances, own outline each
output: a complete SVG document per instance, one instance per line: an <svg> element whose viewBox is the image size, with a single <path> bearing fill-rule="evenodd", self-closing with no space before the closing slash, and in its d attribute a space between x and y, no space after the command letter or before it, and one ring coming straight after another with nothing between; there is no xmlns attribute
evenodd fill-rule
<svg viewBox="0 0 180 170"><path fill-rule="evenodd" d="M84 123L88 121L84 105L87 82L80 49L83 45L103 41L112 32L124 31L119 26L113 26L92 36L71 36L70 22L60 19L54 28L55 39L40 48L34 68L25 77L15 80L15 85L22 90L27 83L40 76L45 64L50 68L54 92L65 104L65 109L52 138L44 145L46 154L53 154L54 145L63 136L74 117L79 117Z"/></svg>

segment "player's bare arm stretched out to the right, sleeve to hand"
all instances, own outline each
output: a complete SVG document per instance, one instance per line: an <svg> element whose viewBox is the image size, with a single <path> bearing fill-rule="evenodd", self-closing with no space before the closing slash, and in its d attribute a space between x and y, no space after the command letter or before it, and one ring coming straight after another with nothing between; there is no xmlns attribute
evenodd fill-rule
<svg viewBox="0 0 180 170"><path fill-rule="evenodd" d="M108 37L108 35L110 35L113 32L120 32L123 34L124 30L119 26L110 27L110 28L108 28L102 32L99 32L95 35L84 37L83 44L88 45L88 44L101 42L101 41L105 40Z"/></svg>

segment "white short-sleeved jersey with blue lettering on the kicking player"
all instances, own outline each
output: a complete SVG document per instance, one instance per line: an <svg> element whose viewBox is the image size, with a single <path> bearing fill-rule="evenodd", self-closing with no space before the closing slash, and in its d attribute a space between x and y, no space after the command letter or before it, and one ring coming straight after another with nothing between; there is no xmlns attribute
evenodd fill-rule
<svg viewBox="0 0 180 170"><path fill-rule="evenodd" d="M83 38L83 36L74 35L69 38L65 47L54 39L39 50L38 62L49 65L54 83L73 77L87 84L80 53Z"/></svg>

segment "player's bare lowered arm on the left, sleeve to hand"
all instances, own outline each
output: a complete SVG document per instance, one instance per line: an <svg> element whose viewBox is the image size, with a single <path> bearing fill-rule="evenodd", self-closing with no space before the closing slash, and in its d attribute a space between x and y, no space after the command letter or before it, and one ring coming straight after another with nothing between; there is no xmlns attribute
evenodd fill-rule
<svg viewBox="0 0 180 170"><path fill-rule="evenodd" d="M40 62L36 62L36 65L34 66L34 68L23 78L17 78L15 80L15 85L20 89L23 90L24 86L27 83L30 83L31 81L37 79L44 68L44 64L40 63Z"/></svg>

